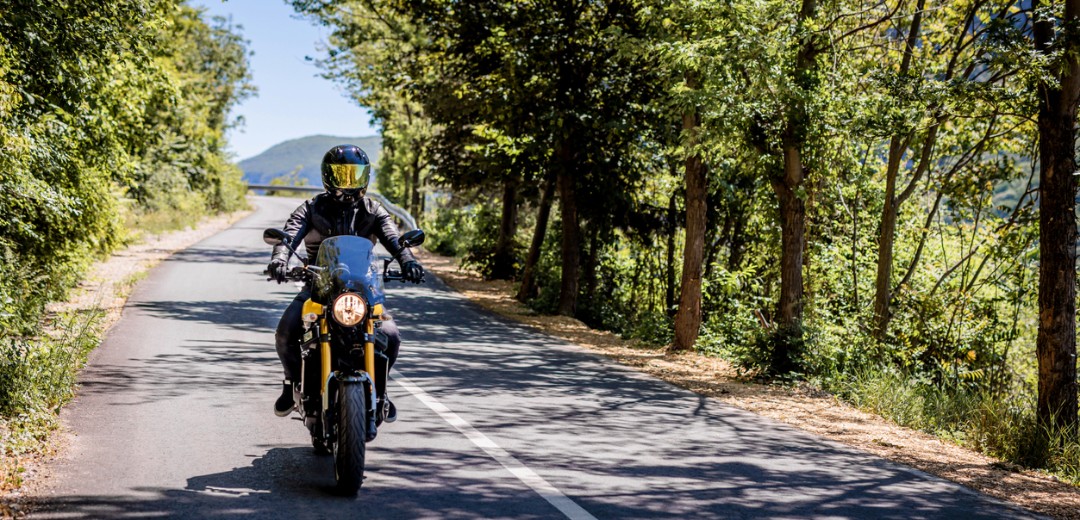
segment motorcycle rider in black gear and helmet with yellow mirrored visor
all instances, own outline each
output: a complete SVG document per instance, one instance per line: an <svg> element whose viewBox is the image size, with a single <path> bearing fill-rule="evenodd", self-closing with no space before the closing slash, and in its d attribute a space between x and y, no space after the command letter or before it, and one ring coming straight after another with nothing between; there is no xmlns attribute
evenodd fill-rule
<svg viewBox="0 0 1080 520"><path fill-rule="evenodd" d="M284 230L294 237L293 245L301 242L308 252L309 264L313 264L319 252L319 245L324 239L339 235L355 235L375 242L376 239L390 252L402 266L402 277L406 281L419 283L423 280L423 267L416 261L408 248L399 244L397 226L390 214L378 201L367 198L367 184L370 178L372 165L367 154L353 145L340 145L330 148L323 156L322 177L325 192L305 201L297 208ZM276 245L267 271L279 283L284 282L288 271L288 249ZM278 357L285 372L282 381L281 397L274 402L273 411L279 417L287 416L295 408L293 387L300 382L300 336L302 326L300 315L306 302L311 295L310 284L293 298L278 322L274 334ZM379 323L379 333L384 335L389 366L397 359L401 335L397 325L389 314L384 314ZM389 397L386 405L389 409L384 421L392 423L397 418L397 411Z"/></svg>

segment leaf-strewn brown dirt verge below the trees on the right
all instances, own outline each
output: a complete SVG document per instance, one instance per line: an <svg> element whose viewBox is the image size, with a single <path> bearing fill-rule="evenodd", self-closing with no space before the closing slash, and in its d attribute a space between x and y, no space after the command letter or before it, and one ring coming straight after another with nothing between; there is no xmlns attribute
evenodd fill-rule
<svg viewBox="0 0 1080 520"><path fill-rule="evenodd" d="M454 258L421 253L424 267L482 307L603 354L691 391L781 421L882 458L936 475L1059 519L1080 520L1080 489L1023 470L931 435L903 428L810 387L747 383L730 363L694 352L669 354L565 316L541 316L513 298L505 281L484 281Z"/></svg>

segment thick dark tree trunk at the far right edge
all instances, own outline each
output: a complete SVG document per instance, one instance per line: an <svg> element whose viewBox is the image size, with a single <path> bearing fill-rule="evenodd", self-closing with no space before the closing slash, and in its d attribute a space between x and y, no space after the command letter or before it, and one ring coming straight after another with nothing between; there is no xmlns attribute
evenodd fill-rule
<svg viewBox="0 0 1080 520"><path fill-rule="evenodd" d="M1038 8L1038 1L1032 2ZM1038 12L1038 11L1036 11ZM1064 26L1080 21L1080 0L1065 4ZM1080 99L1075 34L1054 34L1051 19L1037 19L1039 52L1064 46L1061 80L1039 85L1039 358L1038 421L1043 427L1077 424L1076 358L1076 131Z"/></svg>

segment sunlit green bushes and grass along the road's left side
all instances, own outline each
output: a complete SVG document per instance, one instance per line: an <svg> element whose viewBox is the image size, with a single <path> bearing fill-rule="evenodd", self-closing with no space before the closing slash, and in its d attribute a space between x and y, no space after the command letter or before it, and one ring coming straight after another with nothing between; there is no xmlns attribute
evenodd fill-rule
<svg viewBox="0 0 1080 520"><path fill-rule="evenodd" d="M179 0L0 0L0 491L102 332L49 304L139 234L245 205L225 154L244 43Z"/></svg>

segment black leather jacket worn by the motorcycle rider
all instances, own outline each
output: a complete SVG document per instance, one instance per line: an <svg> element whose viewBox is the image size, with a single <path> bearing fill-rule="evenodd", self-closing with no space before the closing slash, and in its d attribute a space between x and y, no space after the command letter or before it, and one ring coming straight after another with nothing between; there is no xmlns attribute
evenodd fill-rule
<svg viewBox="0 0 1080 520"><path fill-rule="evenodd" d="M319 194L311 200L303 201L285 221L285 232L295 237L293 246L298 248L302 238L308 251L308 263L315 262L319 245L323 240L339 235L355 235L369 239L373 243L378 239L382 246L401 264L416 261L407 248L397 243L397 225L390 218L390 213L378 201L361 197L355 202L341 203L328 194ZM299 252L299 249L297 249ZM288 249L276 245L273 257L285 259Z"/></svg>

